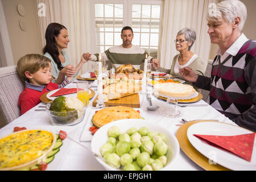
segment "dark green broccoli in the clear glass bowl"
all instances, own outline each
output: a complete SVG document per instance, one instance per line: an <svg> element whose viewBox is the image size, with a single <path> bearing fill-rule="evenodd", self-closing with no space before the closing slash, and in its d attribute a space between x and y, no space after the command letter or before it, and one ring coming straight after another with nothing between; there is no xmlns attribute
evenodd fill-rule
<svg viewBox="0 0 256 182"><path fill-rule="evenodd" d="M51 106L49 107L49 110L54 112L61 112L61 113L52 112L53 115L59 116L59 117L54 117L54 119L60 123L73 122L78 118L77 110L67 107L65 103L65 97L63 96L55 98L55 100L53 100ZM68 112L68 111L73 111L73 112Z"/></svg>

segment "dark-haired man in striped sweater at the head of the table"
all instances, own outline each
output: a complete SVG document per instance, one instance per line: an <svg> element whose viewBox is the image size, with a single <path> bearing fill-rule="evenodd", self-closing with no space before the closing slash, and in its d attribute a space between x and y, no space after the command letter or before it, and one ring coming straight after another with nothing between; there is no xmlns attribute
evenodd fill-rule
<svg viewBox="0 0 256 182"><path fill-rule="evenodd" d="M123 64L132 64L134 68L139 69L148 54L144 49L131 44L133 40L133 29L131 27L123 27L121 39L123 43L120 46L114 46L101 53L102 60L110 61L112 67L117 68ZM91 55L86 53L86 60L98 61L98 53ZM153 67L159 67L159 60L149 56Z"/></svg>

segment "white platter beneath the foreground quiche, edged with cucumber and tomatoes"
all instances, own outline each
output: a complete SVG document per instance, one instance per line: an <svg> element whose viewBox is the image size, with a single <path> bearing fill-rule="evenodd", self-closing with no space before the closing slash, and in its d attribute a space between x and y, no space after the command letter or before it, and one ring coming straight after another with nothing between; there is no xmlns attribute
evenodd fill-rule
<svg viewBox="0 0 256 182"><path fill-rule="evenodd" d="M65 131L68 134L68 137L75 138L77 134L77 127L70 126L35 126L35 125L22 125L21 123L17 123L17 126L26 127L27 129L41 129L52 131L53 133L58 133L60 130ZM13 133L13 126L6 128L5 130L1 130L0 137L4 137ZM72 140L66 138L63 140L63 145L60 147L60 151L57 152L54 159L47 166L47 171L58 171L61 167L61 164L64 162L65 155L67 154L70 144L72 144Z"/></svg>

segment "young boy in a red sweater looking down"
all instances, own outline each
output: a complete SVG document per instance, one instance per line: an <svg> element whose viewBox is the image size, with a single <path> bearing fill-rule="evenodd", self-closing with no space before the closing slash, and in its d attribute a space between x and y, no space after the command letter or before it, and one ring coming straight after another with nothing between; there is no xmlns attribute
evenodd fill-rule
<svg viewBox="0 0 256 182"><path fill-rule="evenodd" d="M51 82L51 60L38 54L30 54L19 59L19 76L25 81L25 88L19 96L20 115L38 105L42 94L60 88Z"/></svg>

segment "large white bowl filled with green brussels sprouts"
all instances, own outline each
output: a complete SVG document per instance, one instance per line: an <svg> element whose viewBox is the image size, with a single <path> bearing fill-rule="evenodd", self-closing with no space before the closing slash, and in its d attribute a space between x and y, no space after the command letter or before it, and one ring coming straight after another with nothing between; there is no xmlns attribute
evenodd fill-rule
<svg viewBox="0 0 256 182"><path fill-rule="evenodd" d="M180 146L174 134L144 119L122 119L102 126L92 138L92 151L108 171L169 170Z"/></svg>

